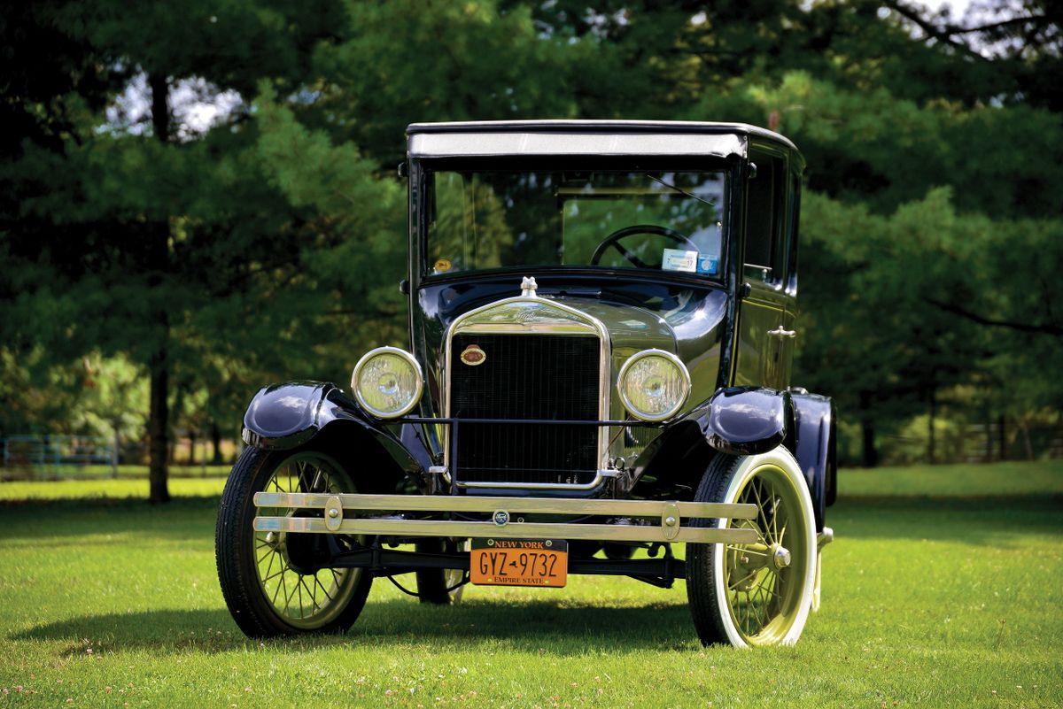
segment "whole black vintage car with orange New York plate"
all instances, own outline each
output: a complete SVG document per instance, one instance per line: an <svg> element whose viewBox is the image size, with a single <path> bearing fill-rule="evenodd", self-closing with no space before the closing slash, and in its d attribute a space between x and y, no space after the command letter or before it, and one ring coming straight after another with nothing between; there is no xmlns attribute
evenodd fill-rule
<svg viewBox="0 0 1063 709"><path fill-rule="evenodd" d="M819 606L830 399L790 386L803 159L740 124L415 124L409 348L260 390L218 517L251 636L347 629L374 578L686 582L705 643ZM405 581L404 581L405 580Z"/></svg>

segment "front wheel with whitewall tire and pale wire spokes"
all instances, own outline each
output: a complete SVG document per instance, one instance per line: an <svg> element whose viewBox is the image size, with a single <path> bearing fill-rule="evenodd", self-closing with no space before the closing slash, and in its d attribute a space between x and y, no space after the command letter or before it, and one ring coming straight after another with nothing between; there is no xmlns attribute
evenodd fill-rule
<svg viewBox="0 0 1063 709"><path fill-rule="evenodd" d="M784 448L759 455L718 455L697 502L750 503L756 519L704 520L757 532L746 544L687 544L687 595L706 645L792 645L813 600L815 522L797 462Z"/></svg>

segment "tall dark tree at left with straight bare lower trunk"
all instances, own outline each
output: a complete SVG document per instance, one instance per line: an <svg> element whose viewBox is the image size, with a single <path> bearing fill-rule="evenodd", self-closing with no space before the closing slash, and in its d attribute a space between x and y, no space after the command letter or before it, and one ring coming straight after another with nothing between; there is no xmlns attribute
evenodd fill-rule
<svg viewBox="0 0 1063 709"><path fill-rule="evenodd" d="M248 300L299 281L302 275L293 272L305 228L298 208L265 185L253 125L237 114L224 126L231 129L200 135L174 120L172 91L183 77L205 77L201 85L214 96L224 86L214 84L215 77L254 86L257 80L246 68L256 65L266 45L274 51L257 64L259 70L302 83L309 51L328 36L330 7L309 8L321 12L302 24L284 19L292 10L284 3L277 8L249 2L220 10L214 3L62 3L34 6L16 18L24 27L15 35L26 29L52 33L70 50L44 67L34 54L20 54L10 70L27 76L24 86L36 93L16 97L9 109L23 123L36 117L37 126L28 132L28 142L7 150L3 165L11 186L3 229L11 279L6 341L22 350L45 344L58 359L99 347L147 367L154 502L168 498L171 375L196 365L185 359L193 340L188 330L201 308L210 312L219 299L232 327L255 314L241 312ZM257 21L249 23L249 17ZM234 45L224 32L236 25L243 41ZM181 36L183 28L199 41ZM203 53L204 40L208 47L213 41L215 55ZM101 79L100 66L113 71ZM41 72L62 76L71 67L75 75L66 83L38 82ZM117 94L119 81L141 75L149 110L126 125L107 123L101 108ZM249 260L248 254L266 259ZM275 332L244 340L248 359L266 350Z"/></svg>

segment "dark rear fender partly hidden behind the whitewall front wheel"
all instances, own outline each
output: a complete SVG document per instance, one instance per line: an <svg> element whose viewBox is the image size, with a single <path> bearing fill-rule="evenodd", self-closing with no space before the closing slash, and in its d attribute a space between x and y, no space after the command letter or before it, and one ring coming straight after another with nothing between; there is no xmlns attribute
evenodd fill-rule
<svg viewBox="0 0 1063 709"><path fill-rule="evenodd" d="M794 457L812 495L816 530L822 531L826 508L838 498L838 420L834 402L817 394L792 394Z"/></svg>

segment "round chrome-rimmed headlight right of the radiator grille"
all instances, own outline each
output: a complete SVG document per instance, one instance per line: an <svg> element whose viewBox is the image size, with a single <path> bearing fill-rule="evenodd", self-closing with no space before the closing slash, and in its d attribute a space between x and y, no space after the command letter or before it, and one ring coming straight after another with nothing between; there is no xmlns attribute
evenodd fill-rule
<svg viewBox="0 0 1063 709"><path fill-rule="evenodd" d="M644 349L624 362L617 391L624 408L636 418L663 421L686 403L690 375L675 354Z"/></svg>

